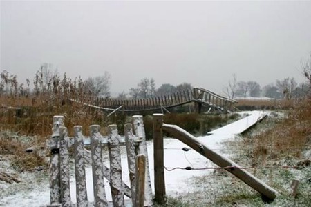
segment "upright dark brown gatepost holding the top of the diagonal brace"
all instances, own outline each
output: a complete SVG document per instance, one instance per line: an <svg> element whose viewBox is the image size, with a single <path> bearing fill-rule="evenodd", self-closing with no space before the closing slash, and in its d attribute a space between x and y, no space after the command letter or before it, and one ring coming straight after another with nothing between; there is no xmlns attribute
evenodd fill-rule
<svg viewBox="0 0 311 207"><path fill-rule="evenodd" d="M154 187L156 202L165 203L165 179L164 179L164 148L163 148L163 115L153 114L153 159L154 159Z"/></svg>

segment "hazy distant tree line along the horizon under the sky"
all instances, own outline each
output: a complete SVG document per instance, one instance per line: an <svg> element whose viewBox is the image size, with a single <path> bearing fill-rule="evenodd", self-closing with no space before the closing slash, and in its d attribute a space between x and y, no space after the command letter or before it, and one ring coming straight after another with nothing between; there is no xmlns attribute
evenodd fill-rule
<svg viewBox="0 0 311 207"><path fill-rule="evenodd" d="M311 53L310 59L301 62L301 68L303 75L307 79L305 83L298 84L294 78L287 77L261 87L256 81L237 81L237 76L234 74L223 92L231 99L236 97L270 97L274 99L302 97L310 92ZM10 75L6 70L0 73L0 96L28 97L29 95L35 95L37 97L39 95L61 94L64 98L68 97L68 95L110 97L111 75L109 72L104 72L104 75L88 77L86 80L82 80L81 77L70 79L66 76L66 73L61 77L52 64L43 63L35 74L33 86L33 89L30 89L29 79L26 79L26 85L24 83L19 84L17 75ZM153 78L145 77L137 83L137 86L129 88L128 93L121 92L117 98L147 99L154 96L173 94L182 90L191 90L192 88L191 83L180 83L176 86L164 83L156 88L156 81Z"/></svg>

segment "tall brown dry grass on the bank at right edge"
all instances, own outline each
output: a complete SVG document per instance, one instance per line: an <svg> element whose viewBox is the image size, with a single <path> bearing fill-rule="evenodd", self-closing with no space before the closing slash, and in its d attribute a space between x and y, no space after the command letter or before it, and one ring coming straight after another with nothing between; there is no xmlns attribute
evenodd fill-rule
<svg viewBox="0 0 311 207"><path fill-rule="evenodd" d="M292 102L285 118L272 128L252 137L252 164L269 160L301 158L311 144L311 99Z"/></svg>

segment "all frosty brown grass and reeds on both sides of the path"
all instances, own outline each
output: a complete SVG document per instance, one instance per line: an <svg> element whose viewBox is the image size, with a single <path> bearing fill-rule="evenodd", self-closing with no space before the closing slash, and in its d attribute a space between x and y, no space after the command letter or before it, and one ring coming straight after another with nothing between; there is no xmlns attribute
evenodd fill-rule
<svg viewBox="0 0 311 207"><path fill-rule="evenodd" d="M310 71L305 70L309 80ZM122 126L129 121L124 114L104 118L105 112L66 101L70 97L79 97L86 102L91 100L92 95L88 94L81 79L55 76L45 85L42 77L40 73L35 76L35 92L32 94L28 87L17 87L15 76L3 79L8 81L3 82L0 95L0 206L4 197L10 199L9 196L18 190L34 190L40 184L48 185L49 152L45 141L51 133L53 115L64 115L70 136L75 125L82 125L84 135L88 135L91 124L117 124L122 132ZM216 170L205 177L189 180L189 188L195 189L194 192L168 198L166 206L310 206L310 96L279 101L254 99L244 103L245 106L274 112L252 130L225 143L226 151L240 166L252 167L249 171L253 175L281 195L270 203L266 202L236 177L224 170ZM236 115L184 113L165 115L164 122L181 126L192 134L204 135L236 119ZM144 116L144 125L147 138L152 137L152 122L147 115ZM106 128L102 127L102 135L105 134ZM265 166L276 168L262 168ZM300 180L296 198L292 197L290 188L294 178Z"/></svg>

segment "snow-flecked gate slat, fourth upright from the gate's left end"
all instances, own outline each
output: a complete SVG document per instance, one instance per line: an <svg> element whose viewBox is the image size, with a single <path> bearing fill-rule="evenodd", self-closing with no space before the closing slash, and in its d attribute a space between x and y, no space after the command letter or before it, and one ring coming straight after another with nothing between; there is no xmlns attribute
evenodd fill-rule
<svg viewBox="0 0 311 207"><path fill-rule="evenodd" d="M93 172L93 189L94 189L94 206L108 206L105 188L104 188L104 173L102 162L102 146L100 143L100 126L90 126L91 136L91 157L92 157L92 172Z"/></svg>

